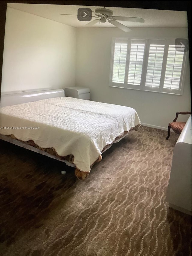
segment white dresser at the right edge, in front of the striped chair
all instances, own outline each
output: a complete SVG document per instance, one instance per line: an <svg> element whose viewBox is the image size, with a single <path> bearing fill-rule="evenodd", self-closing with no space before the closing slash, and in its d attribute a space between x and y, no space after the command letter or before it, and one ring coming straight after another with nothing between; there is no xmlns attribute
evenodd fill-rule
<svg viewBox="0 0 192 256"><path fill-rule="evenodd" d="M191 116L187 120L176 142L167 189L169 207L191 215L191 171L192 171Z"/></svg>

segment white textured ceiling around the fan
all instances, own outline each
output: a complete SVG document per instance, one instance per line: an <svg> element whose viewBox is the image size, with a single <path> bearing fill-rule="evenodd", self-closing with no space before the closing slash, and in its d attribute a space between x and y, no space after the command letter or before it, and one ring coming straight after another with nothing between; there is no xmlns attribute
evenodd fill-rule
<svg viewBox="0 0 192 256"><path fill-rule="evenodd" d="M42 5L42 4L16 4L8 3L8 7L25 11L40 17L54 20L76 28L83 28L88 21L79 21L77 19L78 8L96 8L103 6L79 6L79 5ZM144 23L120 21L128 27L187 27L187 12L184 11L168 11L168 10L150 10L137 8L117 8L107 7L113 11L114 16L139 17L145 20ZM60 15L73 14L73 15ZM93 14L92 14L93 15ZM96 18L92 17L92 20ZM94 26L86 27L114 27L112 24L97 23Z"/></svg>

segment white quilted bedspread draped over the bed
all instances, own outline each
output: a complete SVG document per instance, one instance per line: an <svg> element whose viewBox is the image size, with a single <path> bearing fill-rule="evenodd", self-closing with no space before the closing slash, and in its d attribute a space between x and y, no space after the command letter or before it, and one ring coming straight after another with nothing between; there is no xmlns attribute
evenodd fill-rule
<svg viewBox="0 0 192 256"><path fill-rule="evenodd" d="M53 147L60 156L72 154L81 171L90 171L104 146L139 124L133 108L69 97L0 108L0 134Z"/></svg>

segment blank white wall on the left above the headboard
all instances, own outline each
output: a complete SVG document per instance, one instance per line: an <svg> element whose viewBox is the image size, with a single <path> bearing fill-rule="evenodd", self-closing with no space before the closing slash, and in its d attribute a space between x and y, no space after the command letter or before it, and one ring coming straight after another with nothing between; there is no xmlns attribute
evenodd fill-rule
<svg viewBox="0 0 192 256"><path fill-rule="evenodd" d="M1 92L75 85L76 28L7 7Z"/></svg>

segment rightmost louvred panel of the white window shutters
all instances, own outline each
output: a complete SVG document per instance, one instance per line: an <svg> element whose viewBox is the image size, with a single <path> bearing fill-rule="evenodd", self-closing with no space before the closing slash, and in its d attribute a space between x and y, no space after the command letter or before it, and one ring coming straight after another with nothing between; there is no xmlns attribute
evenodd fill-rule
<svg viewBox="0 0 192 256"><path fill-rule="evenodd" d="M167 64L165 70L164 88L179 89L182 66L184 60L184 49L176 51L175 45L169 45Z"/></svg>

